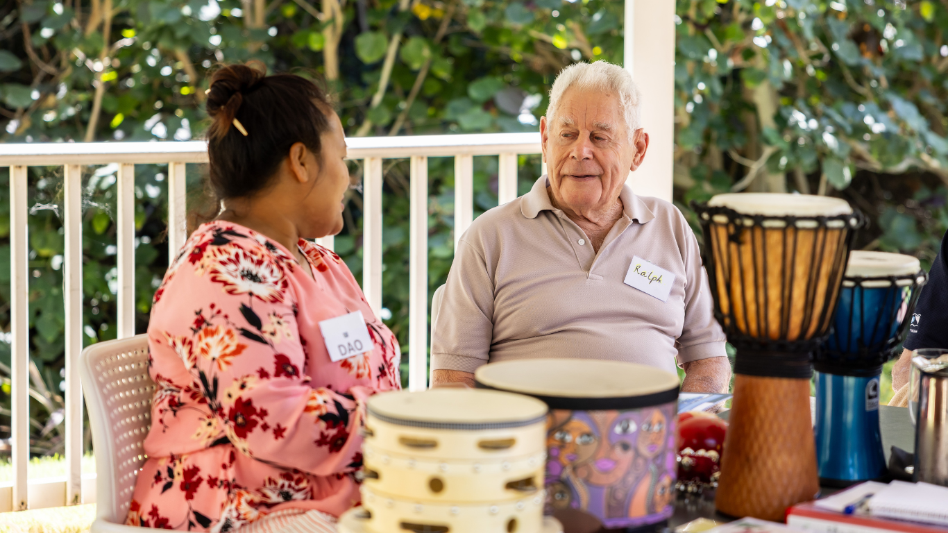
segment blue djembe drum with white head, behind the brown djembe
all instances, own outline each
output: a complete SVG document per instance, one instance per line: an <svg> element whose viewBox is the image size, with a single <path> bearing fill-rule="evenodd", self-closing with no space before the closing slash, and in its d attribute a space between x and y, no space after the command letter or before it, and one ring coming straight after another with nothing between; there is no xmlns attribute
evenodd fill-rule
<svg viewBox="0 0 948 533"><path fill-rule="evenodd" d="M817 351L816 461L825 486L847 487L885 474L879 430L879 377L904 339L927 281L919 260L852 251L833 316Z"/></svg>

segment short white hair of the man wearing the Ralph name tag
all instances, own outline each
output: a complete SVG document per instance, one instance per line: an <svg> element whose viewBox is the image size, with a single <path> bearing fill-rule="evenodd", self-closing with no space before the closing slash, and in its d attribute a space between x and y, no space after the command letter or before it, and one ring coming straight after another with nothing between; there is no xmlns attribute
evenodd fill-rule
<svg viewBox="0 0 948 533"><path fill-rule="evenodd" d="M552 121L559 111L559 101L567 89L584 91L611 92L619 97L619 106L629 128L629 140L635 130L642 127L639 103L639 87L632 81L629 71L616 64L605 61L595 63L576 63L564 68L550 89L550 104L546 108L546 119Z"/></svg>

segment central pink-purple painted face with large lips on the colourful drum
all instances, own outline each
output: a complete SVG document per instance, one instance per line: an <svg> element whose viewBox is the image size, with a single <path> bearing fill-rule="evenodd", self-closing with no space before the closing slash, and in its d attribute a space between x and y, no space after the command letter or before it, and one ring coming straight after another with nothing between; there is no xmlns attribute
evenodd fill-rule
<svg viewBox="0 0 948 533"><path fill-rule="evenodd" d="M609 486L622 479L635 458L635 412L591 412L600 434L605 435L595 450L595 457L579 471L590 485Z"/></svg>

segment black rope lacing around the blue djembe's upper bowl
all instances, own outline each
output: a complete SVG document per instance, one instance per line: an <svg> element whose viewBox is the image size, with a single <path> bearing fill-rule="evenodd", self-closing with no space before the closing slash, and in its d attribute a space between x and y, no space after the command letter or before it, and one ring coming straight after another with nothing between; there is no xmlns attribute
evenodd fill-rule
<svg viewBox="0 0 948 533"><path fill-rule="evenodd" d="M921 287L927 282L928 274L924 270L900 276L844 278L841 300L848 296L849 305L836 310L837 320L834 322L839 322L839 313L848 313L848 317L844 317L848 322L848 338L840 339L841 332L830 336L814 354L813 368L817 372L837 376L878 376L884 363L893 358L902 345L910 323L905 318L915 311ZM852 285L848 285L850 283ZM869 308L866 290L886 291L883 308L878 308L878 305ZM910 291L910 295L902 300L900 297L906 290ZM888 313L883 312L886 309ZM872 316L875 320L870 321L871 324L866 323L866 317ZM898 324L898 328L895 332L890 332L893 324ZM866 328L867 325L871 327ZM855 339L854 332L858 332ZM871 340L871 343L866 344L866 338Z"/></svg>

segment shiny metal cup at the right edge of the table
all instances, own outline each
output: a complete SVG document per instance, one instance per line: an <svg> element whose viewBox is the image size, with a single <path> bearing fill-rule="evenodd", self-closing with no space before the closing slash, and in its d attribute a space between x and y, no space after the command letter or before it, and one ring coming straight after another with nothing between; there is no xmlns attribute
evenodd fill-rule
<svg viewBox="0 0 948 533"><path fill-rule="evenodd" d="M915 481L948 487L948 350L916 350L908 377Z"/></svg>

